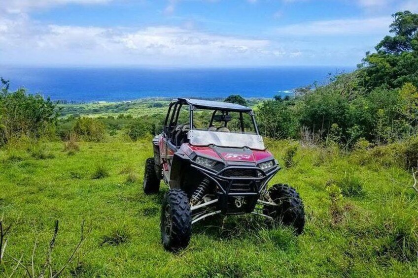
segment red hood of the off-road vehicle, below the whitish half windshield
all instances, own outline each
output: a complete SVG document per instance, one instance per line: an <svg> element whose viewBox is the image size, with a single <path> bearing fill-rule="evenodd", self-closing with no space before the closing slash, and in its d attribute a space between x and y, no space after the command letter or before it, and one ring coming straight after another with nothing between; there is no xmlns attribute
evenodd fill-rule
<svg viewBox="0 0 418 278"><path fill-rule="evenodd" d="M188 148L190 151L194 152L197 155L202 155L206 157L213 157L215 159L221 159L228 162L257 162L261 160L266 160L268 158L274 158L269 151L258 151L251 150L248 148L223 148L223 147L196 147L188 144L185 148ZM184 151L184 150L183 150ZM191 152L185 153L191 153Z"/></svg>

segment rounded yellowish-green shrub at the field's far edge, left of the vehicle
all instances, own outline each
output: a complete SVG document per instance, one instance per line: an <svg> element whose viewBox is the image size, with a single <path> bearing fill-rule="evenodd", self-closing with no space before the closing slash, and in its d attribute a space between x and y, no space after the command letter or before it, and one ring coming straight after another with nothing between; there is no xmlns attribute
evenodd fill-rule
<svg viewBox="0 0 418 278"><path fill-rule="evenodd" d="M79 118L76 120L72 131L82 139L89 142L100 142L104 139L104 124L93 118Z"/></svg>

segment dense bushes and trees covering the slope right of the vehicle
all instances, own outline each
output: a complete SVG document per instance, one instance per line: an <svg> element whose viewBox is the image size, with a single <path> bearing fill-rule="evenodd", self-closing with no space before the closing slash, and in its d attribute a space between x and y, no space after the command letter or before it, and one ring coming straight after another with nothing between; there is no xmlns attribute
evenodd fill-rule
<svg viewBox="0 0 418 278"><path fill-rule="evenodd" d="M294 99L260 108L261 130L274 138L312 138L352 147L360 139L382 145L408 139L418 127L418 15L393 15L390 32L359 69Z"/></svg>

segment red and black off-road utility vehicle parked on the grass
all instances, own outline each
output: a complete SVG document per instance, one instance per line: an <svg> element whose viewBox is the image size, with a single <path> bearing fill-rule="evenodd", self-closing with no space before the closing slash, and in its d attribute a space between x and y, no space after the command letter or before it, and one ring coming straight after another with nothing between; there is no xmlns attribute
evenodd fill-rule
<svg viewBox="0 0 418 278"><path fill-rule="evenodd" d="M154 157L145 164L143 190L170 190L163 199L164 247L189 244L192 224L216 214L256 214L293 226L305 225L299 194L267 183L280 167L264 146L251 108L198 99L170 103L164 131L153 139Z"/></svg>

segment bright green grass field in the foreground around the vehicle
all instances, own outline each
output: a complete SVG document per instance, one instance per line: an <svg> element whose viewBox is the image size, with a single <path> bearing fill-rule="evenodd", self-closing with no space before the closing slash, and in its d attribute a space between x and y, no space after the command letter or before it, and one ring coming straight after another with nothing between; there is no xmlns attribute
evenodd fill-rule
<svg viewBox="0 0 418 278"><path fill-rule="evenodd" d="M282 161L288 142L268 141ZM52 271L63 266L91 229L63 276L75 277L417 277L418 197L412 176L397 167L358 165L355 154L299 147L295 165L271 184L300 192L305 232L272 227L257 216L217 217L193 227L190 246L173 254L160 243L160 204L142 192L150 139L21 144L0 149L0 212L12 223L0 273L22 257L42 267L59 219ZM17 273L22 276L23 268Z"/></svg>

